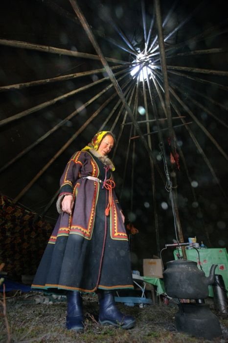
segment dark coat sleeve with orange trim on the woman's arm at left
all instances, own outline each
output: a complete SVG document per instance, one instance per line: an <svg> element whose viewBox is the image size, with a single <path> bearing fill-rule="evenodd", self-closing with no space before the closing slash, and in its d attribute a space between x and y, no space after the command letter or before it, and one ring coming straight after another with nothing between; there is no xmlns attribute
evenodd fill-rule
<svg viewBox="0 0 228 343"><path fill-rule="evenodd" d="M61 203L66 195L73 196L73 187L80 177L80 171L85 162L85 154L82 151L77 151L68 161L67 166L60 179L60 192L56 203L57 211L62 212Z"/></svg>

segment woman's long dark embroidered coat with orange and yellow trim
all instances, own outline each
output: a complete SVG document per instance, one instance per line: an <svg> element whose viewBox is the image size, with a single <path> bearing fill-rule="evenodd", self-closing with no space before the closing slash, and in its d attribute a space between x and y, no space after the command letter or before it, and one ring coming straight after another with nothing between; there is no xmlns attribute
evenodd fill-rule
<svg viewBox="0 0 228 343"><path fill-rule="evenodd" d="M129 243L113 190L109 215L105 215L109 191L102 181L113 179L96 151L78 151L61 177L61 197L73 194L72 215L61 213L35 275L32 288L94 292L100 289L132 289Z"/></svg>

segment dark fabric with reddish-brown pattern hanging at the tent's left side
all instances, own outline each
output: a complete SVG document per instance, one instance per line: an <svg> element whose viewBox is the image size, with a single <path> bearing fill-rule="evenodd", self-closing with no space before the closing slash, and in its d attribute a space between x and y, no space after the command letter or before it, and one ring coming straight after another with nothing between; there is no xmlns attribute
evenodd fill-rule
<svg viewBox="0 0 228 343"><path fill-rule="evenodd" d="M0 196L0 263L11 279L35 274L52 230L36 213Z"/></svg>

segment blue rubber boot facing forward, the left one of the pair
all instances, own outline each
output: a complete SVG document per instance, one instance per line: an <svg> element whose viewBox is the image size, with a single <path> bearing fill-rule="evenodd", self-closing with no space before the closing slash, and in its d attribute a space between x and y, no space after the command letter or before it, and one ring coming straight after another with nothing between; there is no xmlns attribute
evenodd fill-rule
<svg viewBox="0 0 228 343"><path fill-rule="evenodd" d="M68 291L67 293L67 321L66 328L75 331L84 329L83 325L83 309L82 309L82 296L77 291Z"/></svg>

